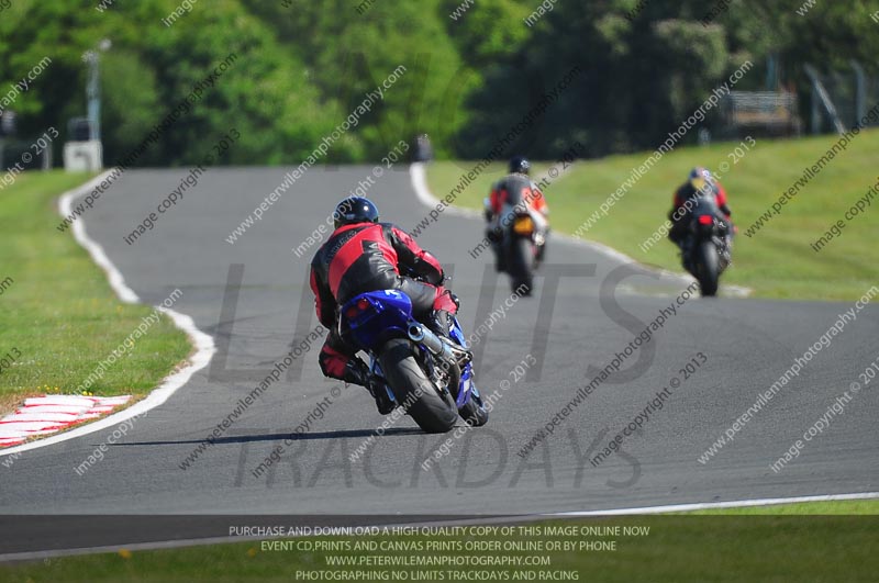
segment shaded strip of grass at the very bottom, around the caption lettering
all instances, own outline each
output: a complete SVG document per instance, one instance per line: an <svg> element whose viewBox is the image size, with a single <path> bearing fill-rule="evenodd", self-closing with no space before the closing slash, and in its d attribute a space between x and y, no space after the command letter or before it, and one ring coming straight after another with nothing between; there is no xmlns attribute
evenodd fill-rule
<svg viewBox="0 0 879 583"><path fill-rule="evenodd" d="M857 503L860 504L860 503ZM798 508L810 513L837 511L861 511L859 505L838 503L806 505ZM776 509L781 508L775 507ZM790 506L783 506L790 509ZM875 512L876 506L871 505ZM264 549L260 541L191 547L174 550L129 551L62 559L49 559L40 563L0 565L0 580L42 582L280 582L303 581L297 571L351 573L352 567L332 567L327 557L398 557L398 556L456 556L456 557L548 557L549 567L524 568L526 571L567 571L577 573L579 581L601 582L685 582L685 581L876 581L879 568L879 537L874 516L790 516L786 512L777 516L697 516L663 515L630 516L614 518L590 518L527 523L515 526L589 526L649 527L645 536L572 536L546 535L545 532L479 536L455 532L447 536L368 536L368 537L316 537L299 540L349 541L347 550L298 549L297 547L271 550ZM279 520L278 524L282 525ZM499 526L499 525L496 525ZM508 525L502 525L508 526ZM421 552L381 550L355 550L355 541L568 541L579 546L580 541L615 540L615 550L486 550L466 549L456 551ZM364 568L360 568L364 569ZM505 572L507 581L526 581L515 576L515 567L374 567L371 569L405 571L409 581L416 572L430 569L444 572L443 581L466 581L461 574L475 571ZM450 573L449 571L454 572ZM456 574L456 575L455 575ZM359 581L376 579L359 578ZM388 579L394 580L394 579ZM403 580L403 579L398 579ZM419 579L437 581L436 576ZM497 581L497 580L494 580Z"/></svg>

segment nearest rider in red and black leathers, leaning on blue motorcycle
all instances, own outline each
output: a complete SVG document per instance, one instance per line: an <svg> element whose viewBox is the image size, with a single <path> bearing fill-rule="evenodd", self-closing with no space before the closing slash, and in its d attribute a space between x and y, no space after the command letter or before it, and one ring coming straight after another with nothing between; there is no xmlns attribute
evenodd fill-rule
<svg viewBox="0 0 879 583"><path fill-rule="evenodd" d="M434 334L448 337L450 314L457 313L458 300L443 287L445 274L439 261L402 229L379 223L378 209L370 200L347 198L333 216L335 231L311 261L318 318L330 330L318 360L324 375L366 386L379 413L388 414L393 403L382 383L356 356L358 349L338 334L338 307L360 293L399 290L412 300L416 319Z"/></svg>

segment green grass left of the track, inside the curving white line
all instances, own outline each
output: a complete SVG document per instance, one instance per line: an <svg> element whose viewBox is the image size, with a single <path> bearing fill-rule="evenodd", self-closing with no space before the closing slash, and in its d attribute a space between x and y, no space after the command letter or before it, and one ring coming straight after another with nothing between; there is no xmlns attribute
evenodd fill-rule
<svg viewBox="0 0 879 583"><path fill-rule="evenodd" d="M73 234L55 228L58 194L86 178L25 172L0 191L0 281L13 280L0 295L0 355L21 352L0 374L2 410L29 395L71 394L153 312L121 303ZM186 335L163 316L91 392L148 393L189 352Z"/></svg>

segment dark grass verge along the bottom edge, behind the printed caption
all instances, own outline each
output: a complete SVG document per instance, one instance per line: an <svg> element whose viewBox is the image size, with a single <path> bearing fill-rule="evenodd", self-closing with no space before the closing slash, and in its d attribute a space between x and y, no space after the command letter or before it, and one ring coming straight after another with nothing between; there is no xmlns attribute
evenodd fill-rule
<svg viewBox="0 0 879 583"><path fill-rule="evenodd" d="M750 516L752 511L775 515ZM512 525L512 532L507 535L499 530L457 530L288 538L280 543L252 541L174 550L123 549L116 553L0 565L0 579L33 583L875 581L879 567L877 511L875 502L838 502L732 509L720 513L723 516L653 515L525 523ZM815 513L844 515L802 516ZM549 531L559 527L574 530ZM430 543L446 547L441 551ZM424 557L474 562L439 567L414 562ZM542 564L479 562L516 557L522 561L536 558L531 561ZM413 562L389 565L377 562L381 560Z"/></svg>

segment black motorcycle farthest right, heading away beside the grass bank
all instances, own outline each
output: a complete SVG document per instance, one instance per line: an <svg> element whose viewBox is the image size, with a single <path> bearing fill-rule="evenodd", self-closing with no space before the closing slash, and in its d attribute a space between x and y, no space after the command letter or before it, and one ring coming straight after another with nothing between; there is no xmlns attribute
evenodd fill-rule
<svg viewBox="0 0 879 583"><path fill-rule="evenodd" d="M732 233L714 197L691 199L681 257L683 268L698 281L702 296L717 294L721 273L732 262Z"/></svg>

